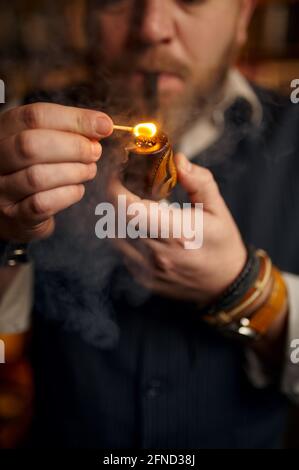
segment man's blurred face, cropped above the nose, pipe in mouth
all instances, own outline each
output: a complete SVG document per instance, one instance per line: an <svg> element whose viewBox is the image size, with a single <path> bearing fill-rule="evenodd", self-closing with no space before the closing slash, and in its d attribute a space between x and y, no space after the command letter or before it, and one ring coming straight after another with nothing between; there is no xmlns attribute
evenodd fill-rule
<svg viewBox="0 0 299 470"><path fill-rule="evenodd" d="M155 74L165 113L183 107L189 112L195 103L205 107L219 98L226 72L246 40L253 3L90 0L94 55L128 95L144 96Z"/></svg>

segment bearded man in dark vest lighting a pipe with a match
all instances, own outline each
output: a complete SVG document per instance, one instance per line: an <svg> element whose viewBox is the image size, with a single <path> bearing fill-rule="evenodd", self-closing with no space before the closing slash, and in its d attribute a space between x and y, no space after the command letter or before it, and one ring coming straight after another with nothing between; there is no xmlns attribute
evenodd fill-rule
<svg viewBox="0 0 299 470"><path fill-rule="evenodd" d="M299 112L233 68L254 3L90 0L90 83L0 116L3 265L17 263L1 270L0 330L32 328L35 447L282 445L299 380ZM177 151L172 201L203 204L200 249L95 237L100 199L147 204L111 136L144 117Z"/></svg>

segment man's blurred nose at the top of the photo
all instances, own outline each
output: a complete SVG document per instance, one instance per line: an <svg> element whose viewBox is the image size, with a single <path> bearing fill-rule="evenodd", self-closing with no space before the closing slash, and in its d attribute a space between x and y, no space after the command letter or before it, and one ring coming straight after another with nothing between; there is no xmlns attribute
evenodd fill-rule
<svg viewBox="0 0 299 470"><path fill-rule="evenodd" d="M145 44L167 44L175 32L172 0L145 0L139 18L139 37Z"/></svg>

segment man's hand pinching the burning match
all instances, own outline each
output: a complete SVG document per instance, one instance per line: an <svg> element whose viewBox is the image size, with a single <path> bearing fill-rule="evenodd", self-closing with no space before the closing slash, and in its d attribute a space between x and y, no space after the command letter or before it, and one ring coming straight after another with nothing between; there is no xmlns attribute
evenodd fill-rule
<svg viewBox="0 0 299 470"><path fill-rule="evenodd" d="M0 115L0 238L49 236L54 215L80 201L95 177L99 140L112 133L98 111L37 103Z"/></svg>

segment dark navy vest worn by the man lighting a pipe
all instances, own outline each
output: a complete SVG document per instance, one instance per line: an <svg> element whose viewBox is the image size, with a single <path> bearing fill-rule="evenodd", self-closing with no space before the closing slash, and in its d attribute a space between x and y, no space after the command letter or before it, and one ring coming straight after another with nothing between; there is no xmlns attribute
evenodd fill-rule
<svg viewBox="0 0 299 470"><path fill-rule="evenodd" d="M246 242L299 274L299 107L257 93L262 125L251 124L238 100L224 136L194 162L212 170ZM185 199L179 188L174 199ZM33 250L33 445L281 445L287 405L278 386L254 388L244 346L206 326L187 303L132 301L119 288L126 274L117 256L109 264L94 244L94 202L87 196L58 216L54 236Z"/></svg>

